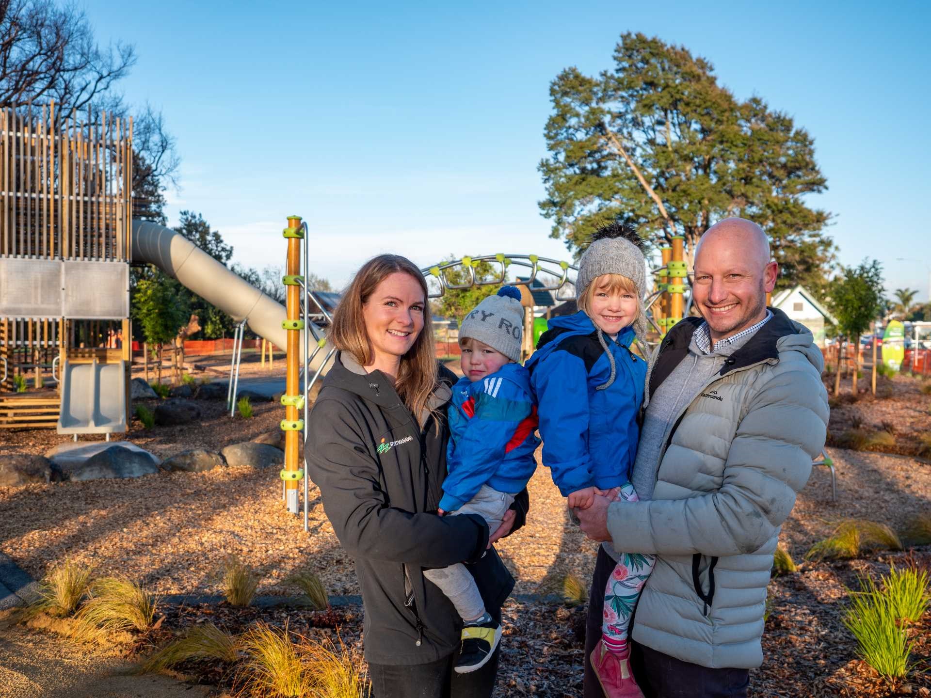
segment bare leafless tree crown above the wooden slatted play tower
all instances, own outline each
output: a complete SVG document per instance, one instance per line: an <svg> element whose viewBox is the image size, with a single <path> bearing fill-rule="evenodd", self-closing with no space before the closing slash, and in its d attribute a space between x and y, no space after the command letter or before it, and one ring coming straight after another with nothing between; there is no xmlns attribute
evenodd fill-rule
<svg viewBox="0 0 931 698"><path fill-rule="evenodd" d="M118 111L111 88L136 62L131 44L102 48L84 12L54 0L0 0L0 104L55 100L60 115L93 102Z"/></svg>

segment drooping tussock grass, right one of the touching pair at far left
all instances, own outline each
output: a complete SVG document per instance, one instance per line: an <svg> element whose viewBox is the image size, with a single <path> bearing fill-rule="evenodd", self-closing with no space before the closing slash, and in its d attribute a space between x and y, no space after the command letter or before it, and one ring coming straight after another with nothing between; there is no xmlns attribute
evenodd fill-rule
<svg viewBox="0 0 931 698"><path fill-rule="evenodd" d="M125 577L104 577L90 584L88 601L77 613L77 620L91 632L137 630L152 627L158 597Z"/></svg>

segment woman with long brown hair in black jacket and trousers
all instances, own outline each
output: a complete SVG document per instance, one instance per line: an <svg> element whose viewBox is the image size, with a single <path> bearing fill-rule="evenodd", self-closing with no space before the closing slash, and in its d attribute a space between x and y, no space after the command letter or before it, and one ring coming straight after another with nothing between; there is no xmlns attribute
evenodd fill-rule
<svg viewBox="0 0 931 698"><path fill-rule="evenodd" d="M500 619L514 580L491 544L515 516L491 536L479 516L437 516L456 378L438 372L426 296L423 275L403 257L381 255L358 271L333 315L338 353L309 424L307 468L356 559L376 698L487 697L497 657L452 678L461 621L423 570L471 563L486 608Z"/></svg>

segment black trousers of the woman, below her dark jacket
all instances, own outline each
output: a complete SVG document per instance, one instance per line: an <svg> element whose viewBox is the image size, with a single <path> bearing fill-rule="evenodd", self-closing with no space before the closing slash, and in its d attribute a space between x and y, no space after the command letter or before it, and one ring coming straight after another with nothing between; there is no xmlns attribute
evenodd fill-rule
<svg viewBox="0 0 931 698"><path fill-rule="evenodd" d="M430 664L369 664L372 698L491 698L500 651L468 674L452 670L458 651Z"/></svg>

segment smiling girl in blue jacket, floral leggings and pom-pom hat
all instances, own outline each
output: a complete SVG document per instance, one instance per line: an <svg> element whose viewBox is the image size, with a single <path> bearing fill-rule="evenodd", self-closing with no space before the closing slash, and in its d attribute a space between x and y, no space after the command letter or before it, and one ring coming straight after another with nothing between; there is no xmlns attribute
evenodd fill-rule
<svg viewBox="0 0 931 698"><path fill-rule="evenodd" d="M579 312L551 319L527 362L543 463L572 508L591 506L596 493L637 499L628 477L647 367L629 347L646 330L641 244L627 225L612 224L593 236L575 282ZM617 567L603 592L601 642L590 661L606 696L642 698L630 672L627 631L654 557L604 546Z"/></svg>

